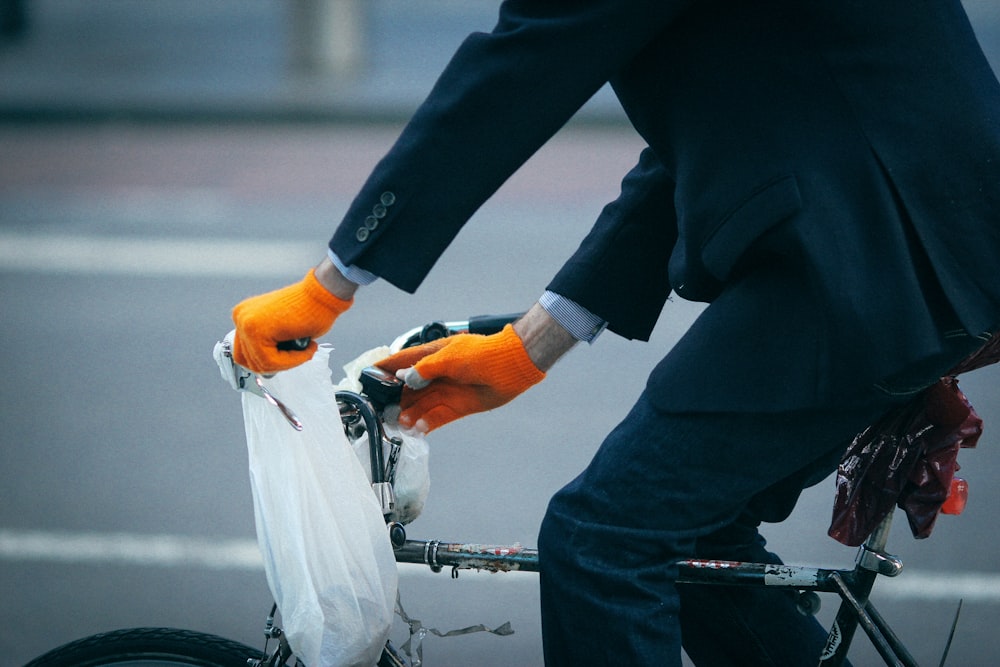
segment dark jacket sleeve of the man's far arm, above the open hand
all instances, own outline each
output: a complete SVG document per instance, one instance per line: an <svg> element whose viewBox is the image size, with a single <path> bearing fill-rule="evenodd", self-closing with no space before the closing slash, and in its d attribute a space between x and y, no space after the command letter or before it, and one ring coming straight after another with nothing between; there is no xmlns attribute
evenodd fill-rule
<svg viewBox="0 0 1000 667"><path fill-rule="evenodd" d="M648 340L671 290L673 193L673 180L647 148L548 289L607 320L615 333Z"/></svg>

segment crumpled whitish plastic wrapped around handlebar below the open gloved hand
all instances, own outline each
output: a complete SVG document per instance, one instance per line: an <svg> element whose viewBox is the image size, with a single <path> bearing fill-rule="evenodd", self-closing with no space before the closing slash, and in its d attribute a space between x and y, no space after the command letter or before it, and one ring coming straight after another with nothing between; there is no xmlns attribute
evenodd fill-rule
<svg viewBox="0 0 1000 667"><path fill-rule="evenodd" d="M392 353L389 347L377 347L360 355L357 359L344 365L344 379L337 385L338 390L361 391L361 370L376 364ZM398 406L386 408L386 422L383 424L386 435L402 441L399 458L396 462L396 476L392 488L396 494L395 520L408 524L420 516L430 493L430 447L423 434L412 429L403 429L394 423L393 410L398 416ZM368 438L361 437L351 443L354 447L362 468L371 481L371 452L368 448ZM388 460L389 452L383 451Z"/></svg>

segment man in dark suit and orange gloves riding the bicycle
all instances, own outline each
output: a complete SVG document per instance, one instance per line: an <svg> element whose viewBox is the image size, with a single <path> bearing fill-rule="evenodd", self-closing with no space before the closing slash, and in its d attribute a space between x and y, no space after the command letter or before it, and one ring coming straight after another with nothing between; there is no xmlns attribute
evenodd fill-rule
<svg viewBox="0 0 1000 667"><path fill-rule="evenodd" d="M792 595L677 587L670 563L777 562L759 523L1000 328L1000 85L960 0L508 0L328 257L236 306L235 359L292 367L314 347L279 344L325 334L360 285L416 290L609 82L647 143L620 196L513 326L383 362L400 419L498 407L605 327L647 339L671 292L709 303L549 505L546 662L679 665L683 644L699 665L815 664L826 633Z"/></svg>

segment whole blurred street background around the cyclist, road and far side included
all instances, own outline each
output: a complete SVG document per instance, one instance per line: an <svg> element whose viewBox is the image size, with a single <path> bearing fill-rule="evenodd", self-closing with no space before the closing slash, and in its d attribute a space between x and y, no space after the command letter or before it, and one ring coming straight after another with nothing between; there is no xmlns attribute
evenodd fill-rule
<svg viewBox="0 0 1000 667"><path fill-rule="evenodd" d="M1000 4L966 7L994 67ZM0 0L0 655L165 625L262 644L239 397L211 359L240 299L301 277L486 0ZM601 91L477 213L415 296L366 289L329 337L339 366L436 319L526 308L614 198L641 142ZM447 205L447 202L443 202ZM581 347L505 409L432 434L416 538L533 545L548 497L589 460L697 316L648 344ZM1000 655L998 373L963 387L987 420L963 452L972 500L915 542L880 609L936 662ZM787 559L849 566L825 536L833 487L767 532ZM656 511L656 508L651 508ZM429 665L541 663L533 575L402 572L442 631ZM835 608L826 601L821 616ZM395 638L405 638L405 628ZM860 642L863 644L863 642ZM874 664L859 646L855 664Z"/></svg>

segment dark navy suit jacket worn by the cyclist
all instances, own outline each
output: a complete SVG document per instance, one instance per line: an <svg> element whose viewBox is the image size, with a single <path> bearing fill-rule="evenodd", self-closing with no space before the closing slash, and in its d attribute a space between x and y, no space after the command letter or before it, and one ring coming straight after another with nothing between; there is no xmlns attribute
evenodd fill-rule
<svg viewBox="0 0 1000 667"><path fill-rule="evenodd" d="M665 407L815 405L1000 324L1000 86L959 0L510 0L331 248L415 290L609 81L649 148L549 288L634 338L713 303Z"/></svg>

